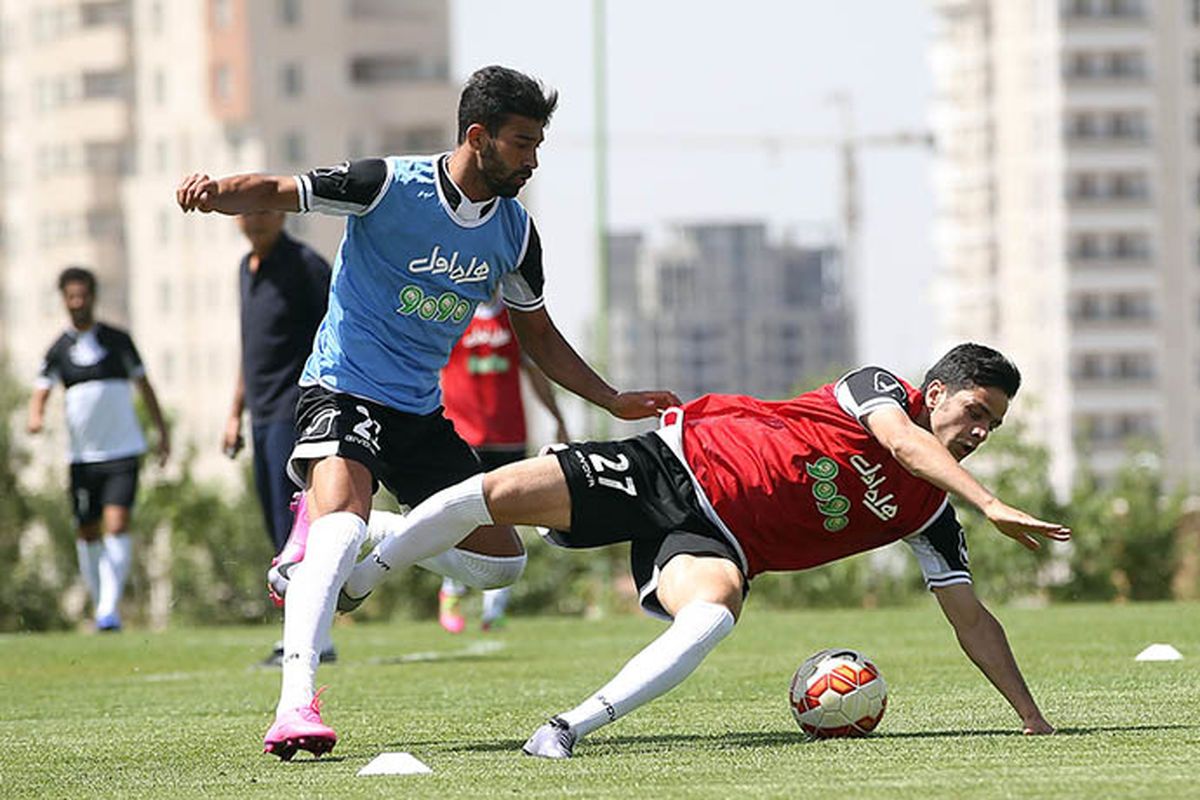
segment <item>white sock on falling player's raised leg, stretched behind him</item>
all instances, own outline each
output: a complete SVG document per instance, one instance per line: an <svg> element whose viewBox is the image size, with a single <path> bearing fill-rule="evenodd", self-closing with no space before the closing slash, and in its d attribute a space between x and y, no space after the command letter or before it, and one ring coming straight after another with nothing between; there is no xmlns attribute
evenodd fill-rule
<svg viewBox="0 0 1200 800"><path fill-rule="evenodd" d="M484 503L484 476L473 475L442 489L395 522L397 529L389 531L354 567L346 583L346 591L352 597L370 593L392 570L400 571L448 551L480 525L493 524Z"/></svg>

